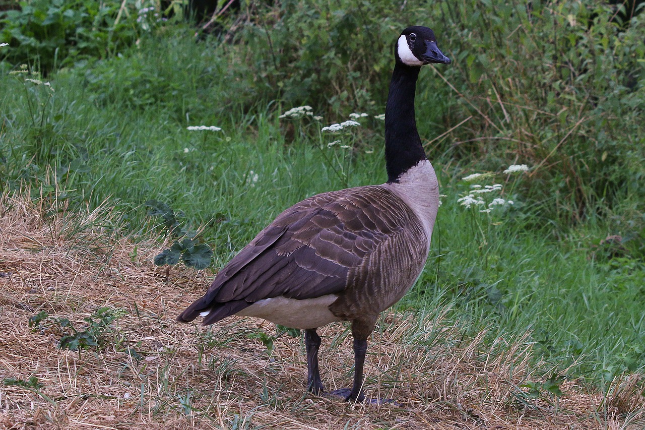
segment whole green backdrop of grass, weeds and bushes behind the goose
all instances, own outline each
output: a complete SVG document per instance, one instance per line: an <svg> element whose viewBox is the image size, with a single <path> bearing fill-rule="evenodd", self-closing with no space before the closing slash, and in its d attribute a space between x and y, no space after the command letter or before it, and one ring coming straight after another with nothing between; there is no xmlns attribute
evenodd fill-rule
<svg viewBox="0 0 645 430"><path fill-rule="evenodd" d="M6 196L44 202L45 220L108 205L95 221L108 237L176 241L157 262L217 271L293 203L384 181L392 44L428 25L453 59L422 71L416 101L444 196L426 271L397 309L444 309L484 344L528 334L555 387L602 392L644 373L642 3L220 1L208 25L184 6L0 3ZM360 127L321 132L350 114L366 114ZM221 130L187 128L199 125ZM514 204L466 207L469 194Z"/></svg>

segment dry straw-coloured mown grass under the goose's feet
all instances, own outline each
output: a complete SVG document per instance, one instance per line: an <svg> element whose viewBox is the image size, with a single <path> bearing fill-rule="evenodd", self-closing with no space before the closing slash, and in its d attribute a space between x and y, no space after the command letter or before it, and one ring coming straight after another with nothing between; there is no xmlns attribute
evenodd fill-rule
<svg viewBox="0 0 645 430"><path fill-rule="evenodd" d="M642 378L608 393L562 383L555 402L518 388L539 382L530 342L464 336L434 314L390 313L368 349L366 391L399 405L353 405L304 393L299 338L284 335L268 353L254 334L272 324L229 318L210 330L175 323L208 276L155 267L152 241L110 234L108 206L63 216L58 202L1 196L0 427L6 429L620 429L644 428ZM52 210L54 209L54 210ZM48 212L58 215L44 216ZM136 251L135 251L136 250ZM46 311L76 325L109 306L121 316L105 342L81 353L59 349L56 327L32 332ZM330 389L351 382L346 326L320 331ZM139 354L138 360L128 348ZM35 376L39 390L6 385ZM368 394L368 395L369 395Z"/></svg>

